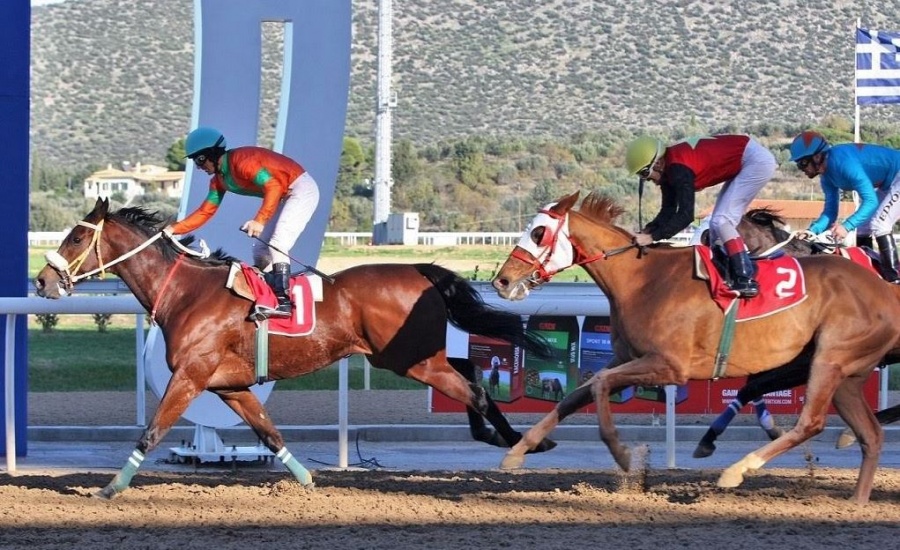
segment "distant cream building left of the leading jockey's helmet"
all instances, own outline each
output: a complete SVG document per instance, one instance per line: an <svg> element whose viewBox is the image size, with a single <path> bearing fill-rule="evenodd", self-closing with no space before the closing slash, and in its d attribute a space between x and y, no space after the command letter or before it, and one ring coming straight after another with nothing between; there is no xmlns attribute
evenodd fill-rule
<svg viewBox="0 0 900 550"><path fill-rule="evenodd" d="M169 198L181 198L184 192L184 172L170 172L162 166L123 163L121 170L108 165L84 180L84 198L109 198L121 193L130 203L134 197L157 193Z"/></svg>

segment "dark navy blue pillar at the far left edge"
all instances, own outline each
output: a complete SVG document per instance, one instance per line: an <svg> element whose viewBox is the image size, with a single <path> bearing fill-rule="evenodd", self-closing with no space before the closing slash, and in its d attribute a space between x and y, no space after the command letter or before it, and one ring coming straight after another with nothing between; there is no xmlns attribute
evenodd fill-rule
<svg viewBox="0 0 900 550"><path fill-rule="evenodd" d="M0 2L0 166L3 166L3 195L0 219L0 296L20 298L28 295L28 116L29 68L31 65L31 3L29 0ZM0 330L6 330L6 316L0 318ZM15 405L16 456L27 453L26 398L28 361L25 317L16 322ZM6 353L5 340L0 343ZM5 381L0 377L0 403L6 408ZM0 423L0 454L6 455L6 425Z"/></svg>

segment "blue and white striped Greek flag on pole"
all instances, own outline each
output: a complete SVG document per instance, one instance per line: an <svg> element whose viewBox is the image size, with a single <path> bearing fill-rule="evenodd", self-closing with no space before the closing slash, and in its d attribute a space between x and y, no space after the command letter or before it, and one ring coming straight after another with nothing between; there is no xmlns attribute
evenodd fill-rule
<svg viewBox="0 0 900 550"><path fill-rule="evenodd" d="M900 103L900 32L856 29L856 103Z"/></svg>

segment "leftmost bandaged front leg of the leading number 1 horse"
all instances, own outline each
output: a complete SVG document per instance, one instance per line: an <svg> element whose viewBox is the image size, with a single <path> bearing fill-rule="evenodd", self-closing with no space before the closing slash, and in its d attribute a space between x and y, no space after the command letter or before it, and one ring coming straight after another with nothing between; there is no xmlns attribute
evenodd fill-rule
<svg viewBox="0 0 900 550"><path fill-rule="evenodd" d="M176 371L172 375L159 402L159 407L157 407L156 413L153 415L153 419L138 440L137 446L132 451L131 456L128 457L125 466L116 474L109 485L94 493L94 496L111 499L128 488L131 484L131 479L137 473L138 468L141 467L144 458L169 433L169 430L172 429L172 426L178 421L191 401L203 391L203 386L202 383L191 380L184 375L183 370Z"/></svg>

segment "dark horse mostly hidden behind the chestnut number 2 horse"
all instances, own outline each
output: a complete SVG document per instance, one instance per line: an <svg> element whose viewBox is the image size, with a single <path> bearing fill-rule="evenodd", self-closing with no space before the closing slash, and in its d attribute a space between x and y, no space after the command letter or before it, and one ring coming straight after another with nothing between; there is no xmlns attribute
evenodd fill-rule
<svg viewBox="0 0 900 550"><path fill-rule="evenodd" d="M779 247L784 253L792 256L803 257L823 252L824 248L819 243L810 243L794 239L792 234L784 229L784 219L777 212L768 208L757 208L747 212L738 224L738 232L744 238L751 254L762 254L767 250ZM900 286L890 285L890 292L900 292ZM887 358L889 362L895 362L900 358ZM787 365L774 370L751 374L747 377L747 383L739 391L735 400L726 410L720 414L710 425L709 429L697 443L694 450L694 458L705 458L716 450L715 441L728 428L737 410L743 405L762 398L763 395L775 391L786 390L806 383L809 376L809 357L801 356ZM763 405L764 406L764 405ZM730 410L729 410L730 409ZM900 405L894 405L875 413L875 418L882 426L900 420ZM778 428L766 430L773 434L780 431ZM847 447L855 441L853 432L849 429L838 437L837 446Z"/></svg>

